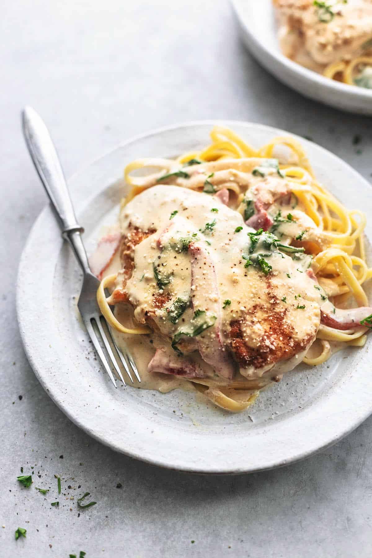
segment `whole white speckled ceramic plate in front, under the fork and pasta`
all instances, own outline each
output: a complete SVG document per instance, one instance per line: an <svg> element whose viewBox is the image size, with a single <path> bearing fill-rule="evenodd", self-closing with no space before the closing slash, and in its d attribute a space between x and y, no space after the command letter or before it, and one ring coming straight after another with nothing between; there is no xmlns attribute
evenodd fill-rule
<svg viewBox="0 0 372 558"><path fill-rule="evenodd" d="M102 224L112 222L117 214L125 194L120 180L124 165L136 157L173 157L205 146L214 123L183 124L134 138L70 180L88 251ZM223 124L255 146L286 133L258 124ZM305 145L318 179L345 204L372 215L368 182L322 147L297 139ZM371 220L367 234L372 235ZM253 472L325 448L372 412L372 336L365 348L337 353L325 365L299 365L238 415L180 390L162 395L129 386L114 389L95 360L79 320L80 283L74 256L62 243L46 206L20 263L17 311L23 343L36 376L61 410L115 450L192 472Z"/></svg>

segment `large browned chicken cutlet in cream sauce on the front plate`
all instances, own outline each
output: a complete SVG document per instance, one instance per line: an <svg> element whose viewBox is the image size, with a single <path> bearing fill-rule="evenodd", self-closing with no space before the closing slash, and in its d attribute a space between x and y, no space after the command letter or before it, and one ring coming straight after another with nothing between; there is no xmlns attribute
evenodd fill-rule
<svg viewBox="0 0 372 558"><path fill-rule="evenodd" d="M152 370L227 384L301 362L321 319L303 249L292 259L218 196L177 186L136 196L120 228L123 270L112 301L129 301L136 321L163 339Z"/></svg>

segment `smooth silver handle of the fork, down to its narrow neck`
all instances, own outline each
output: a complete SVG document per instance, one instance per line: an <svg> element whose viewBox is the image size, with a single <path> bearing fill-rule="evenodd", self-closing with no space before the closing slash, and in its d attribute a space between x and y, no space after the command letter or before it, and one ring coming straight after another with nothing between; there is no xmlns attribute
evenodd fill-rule
<svg viewBox="0 0 372 558"><path fill-rule="evenodd" d="M76 220L56 148L47 127L35 109L25 107L22 110L22 130L32 162L54 209L62 237L69 241L84 273L91 273L83 240L80 237L84 229Z"/></svg>

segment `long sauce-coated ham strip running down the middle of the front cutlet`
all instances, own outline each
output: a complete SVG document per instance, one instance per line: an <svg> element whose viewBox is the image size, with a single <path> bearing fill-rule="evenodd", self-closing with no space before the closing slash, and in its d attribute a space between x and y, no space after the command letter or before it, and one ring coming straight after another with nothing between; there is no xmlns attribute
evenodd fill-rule
<svg viewBox="0 0 372 558"><path fill-rule="evenodd" d="M232 379L234 364L221 339L221 302L216 271L206 248L191 243L191 301L195 310L205 310L215 316L214 325L196 336L201 358L210 364L218 376Z"/></svg>

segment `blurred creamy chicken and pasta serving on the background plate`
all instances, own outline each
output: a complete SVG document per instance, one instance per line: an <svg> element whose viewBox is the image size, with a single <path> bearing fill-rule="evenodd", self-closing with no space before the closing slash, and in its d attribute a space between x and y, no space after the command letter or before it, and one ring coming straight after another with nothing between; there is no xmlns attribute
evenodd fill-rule
<svg viewBox="0 0 372 558"><path fill-rule="evenodd" d="M360 58L351 79L356 85L372 87L372 81L366 79L371 65L368 58L372 56L371 0L273 1L279 40L288 58L344 81L342 73L353 59Z"/></svg>

